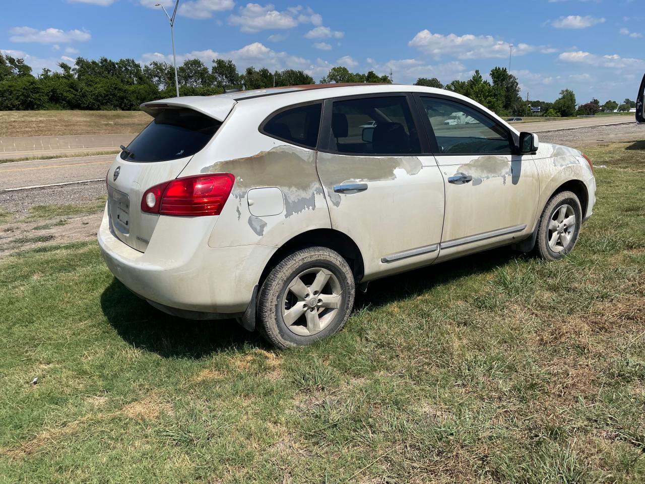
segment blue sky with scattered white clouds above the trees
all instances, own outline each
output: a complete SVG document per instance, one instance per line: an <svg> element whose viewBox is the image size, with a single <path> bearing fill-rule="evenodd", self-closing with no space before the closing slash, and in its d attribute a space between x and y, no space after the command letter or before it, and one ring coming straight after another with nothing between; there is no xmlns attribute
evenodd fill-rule
<svg viewBox="0 0 645 484"><path fill-rule="evenodd" d="M174 0L5 2L0 50L34 74L77 56L172 61L161 8ZM6 5L8 4L8 5ZM335 65L389 74L395 83L447 83L508 66L522 96L551 101L563 88L579 103L635 99L645 73L645 0L328 0L298 3L180 0L179 60L230 58L316 81ZM171 7L172 8L172 7Z"/></svg>

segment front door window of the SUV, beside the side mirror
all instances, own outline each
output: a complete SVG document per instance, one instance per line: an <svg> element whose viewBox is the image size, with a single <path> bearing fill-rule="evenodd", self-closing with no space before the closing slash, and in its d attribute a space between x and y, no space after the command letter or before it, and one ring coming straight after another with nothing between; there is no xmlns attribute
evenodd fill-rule
<svg viewBox="0 0 645 484"><path fill-rule="evenodd" d="M433 97L421 98L441 154L511 154L508 130L488 116L461 103Z"/></svg>

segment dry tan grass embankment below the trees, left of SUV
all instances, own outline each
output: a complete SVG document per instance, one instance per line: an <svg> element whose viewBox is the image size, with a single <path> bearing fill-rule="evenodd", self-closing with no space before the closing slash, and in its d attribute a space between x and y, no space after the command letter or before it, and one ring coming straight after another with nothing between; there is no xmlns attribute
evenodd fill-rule
<svg viewBox="0 0 645 484"><path fill-rule="evenodd" d="M143 111L0 111L0 137L138 133Z"/></svg>

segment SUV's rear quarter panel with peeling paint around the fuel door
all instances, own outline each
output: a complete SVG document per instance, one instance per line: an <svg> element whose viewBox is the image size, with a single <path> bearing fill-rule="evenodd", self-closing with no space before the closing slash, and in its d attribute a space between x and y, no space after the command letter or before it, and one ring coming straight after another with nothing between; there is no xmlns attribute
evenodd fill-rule
<svg viewBox="0 0 645 484"><path fill-rule="evenodd" d="M257 104L257 105L256 105ZM238 103L217 139L195 155L181 176L232 173L235 184L208 239L210 247L261 244L280 247L297 234L330 228L323 187L316 172L316 152L273 139L258 130L270 105ZM253 216L252 188L276 187L284 208L270 216ZM253 205L253 212L261 212Z"/></svg>

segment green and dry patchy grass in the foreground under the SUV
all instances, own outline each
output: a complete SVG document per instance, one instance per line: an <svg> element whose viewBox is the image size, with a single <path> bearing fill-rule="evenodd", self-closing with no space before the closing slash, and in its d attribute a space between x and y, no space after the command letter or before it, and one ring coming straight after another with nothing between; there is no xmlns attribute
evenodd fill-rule
<svg viewBox="0 0 645 484"><path fill-rule="evenodd" d="M165 316L93 241L0 259L0 482L644 482L645 143L586 152L566 259L377 281L299 350Z"/></svg>

